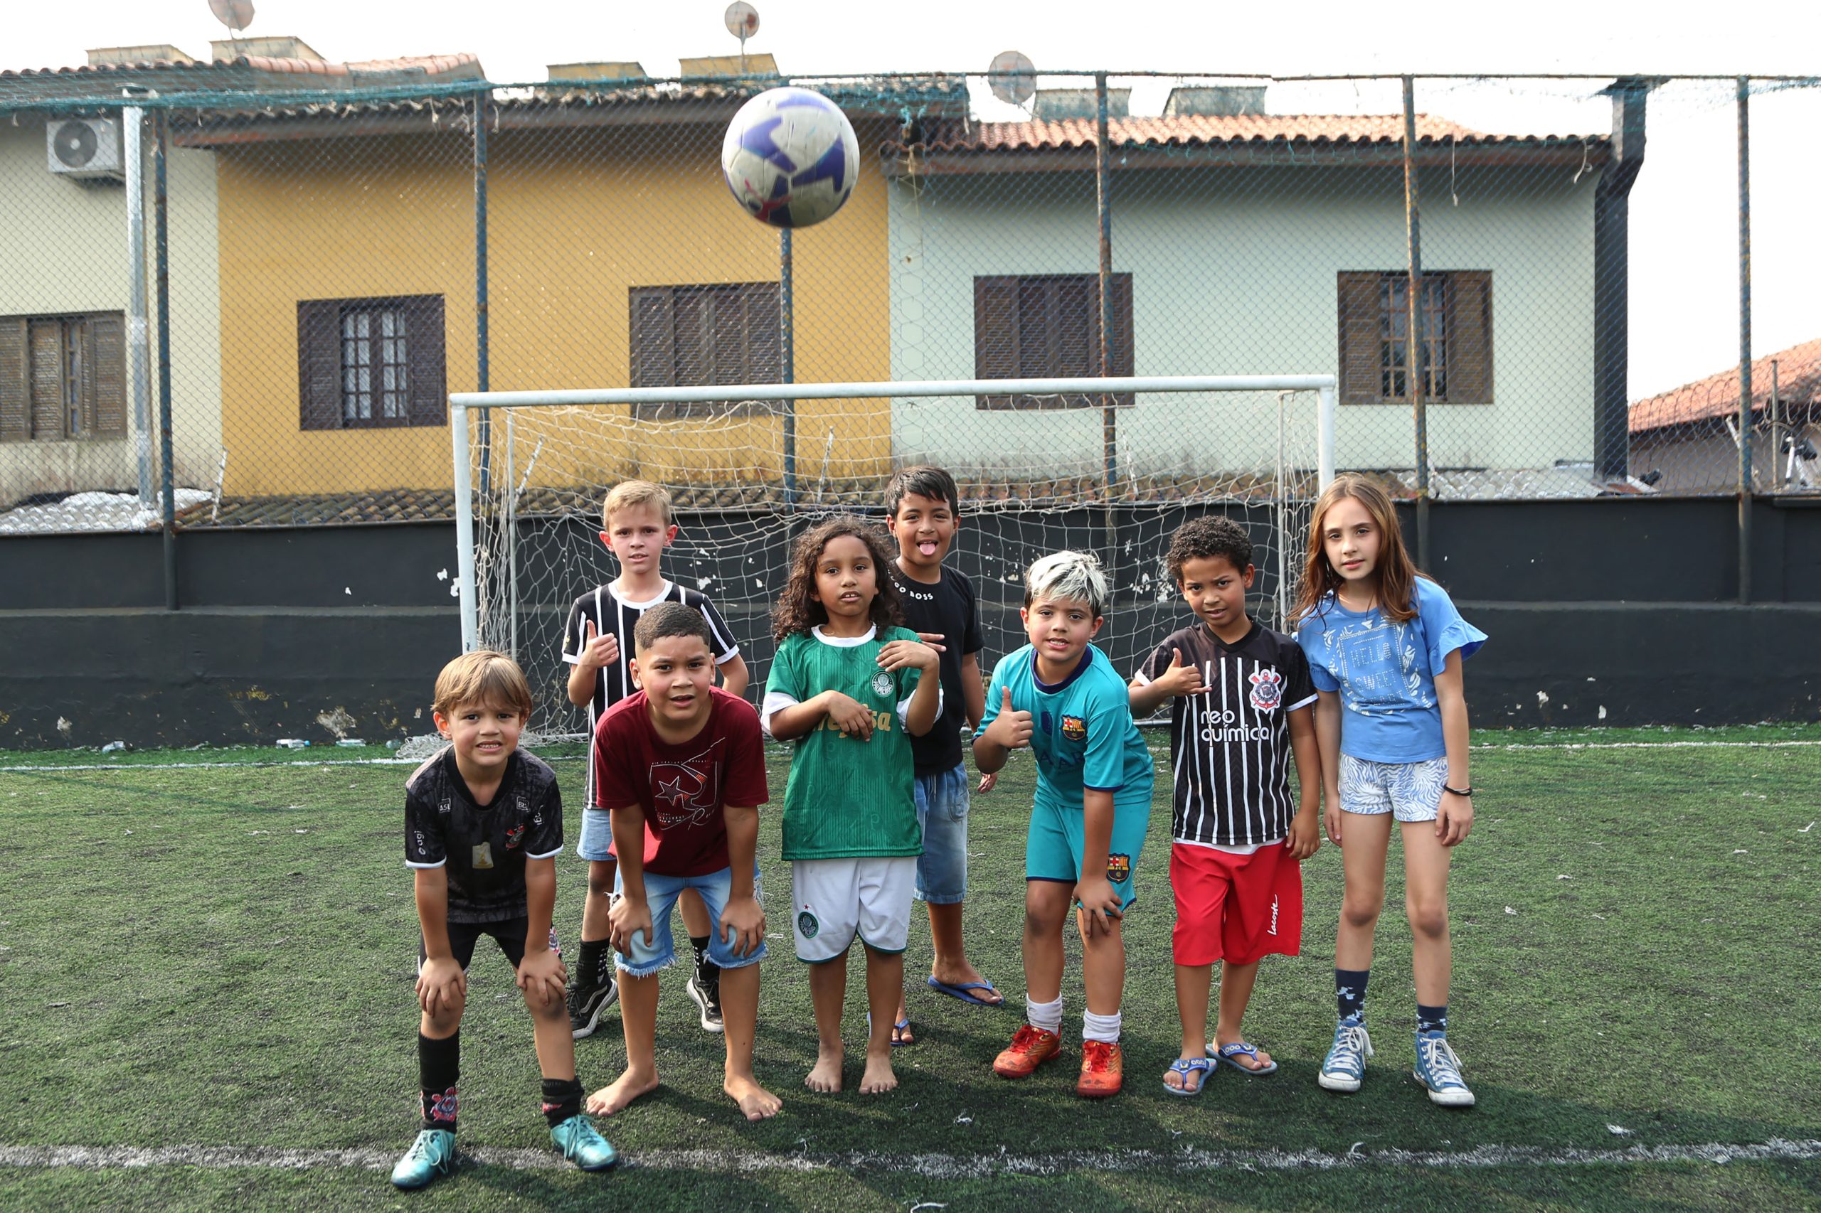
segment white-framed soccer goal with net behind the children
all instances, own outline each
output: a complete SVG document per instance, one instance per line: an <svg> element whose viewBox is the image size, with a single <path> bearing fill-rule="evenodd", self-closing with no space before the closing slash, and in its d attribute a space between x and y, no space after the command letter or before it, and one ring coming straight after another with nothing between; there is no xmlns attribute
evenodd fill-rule
<svg viewBox="0 0 1821 1213"><path fill-rule="evenodd" d="M1238 397L1247 401L1247 406L1235 408L1227 415L1222 415L1218 406L1196 412L1193 408L1196 395ZM938 397L976 397L982 404L960 404L938 413L941 408ZM1038 401L1049 403L1051 408L998 412L983 404L989 399ZM1118 404L1082 406L1083 399L1089 403L1118 399ZM829 401L878 401L883 406L872 412L838 406L839 412L830 413L823 404L816 412L816 403ZM1071 401L1073 406L1063 408L1062 401ZM1151 565L1162 557L1158 545L1167 543L1165 510L1176 512L1169 517L1178 517L1184 508L1209 505L1266 510L1267 521L1262 526L1273 537L1267 554L1271 565L1264 559L1258 565L1277 586L1277 597L1264 614L1280 621L1286 585L1298 576L1291 559L1302 546L1302 535L1297 532L1298 526L1306 526L1302 517L1293 521L1295 508L1302 506L1306 514L1315 492L1335 475L1335 375L923 379L457 392L450 395L450 435L455 488L455 594L461 603L463 648L519 648L521 610L526 616L534 610L543 616L555 608L566 610L574 599L570 590L579 581L559 568L526 574L523 563L543 559L550 565L565 557L550 552L541 556L521 552L515 546L521 543L521 530L534 515L548 519L555 512L563 512L572 525L581 523L588 512L599 508L601 495L612 483L632 475L663 483L674 497L692 501L712 497L725 503L732 495L741 501L736 508L747 510L745 534L736 534L734 525L723 523L727 534L719 539L708 537L707 543L708 546L719 543L723 572L728 563L727 554L738 550L745 565L761 566L747 570L759 576L743 581L738 590L723 576L710 588L710 596L723 610L730 590L736 597L748 599L745 606L754 619L750 630L756 634L763 630L767 590L772 588L763 566L778 566L787 559L785 543L792 523L838 508L854 508L865 492L852 488L858 484L870 488L872 514L878 514L878 490L883 488L889 468L910 463L940 463L956 474L963 483L963 519L978 514L982 521L989 521L994 514L1038 512L1047 515L1036 521L1042 543L1102 552L1116 545L1134 556L1142 554ZM931 408L931 415L921 419L921 428L912 417L918 408ZM483 452L470 413L488 415L492 410L504 412L504 424L490 426L492 446ZM738 410L745 412L736 419ZM739 439L748 446L739 450L739 459L745 463L738 468L732 466L732 459L728 466L721 466L714 463L712 452L703 455L703 450L717 441L717 433L723 443L734 441L727 435L738 426L750 428L754 417L770 426L765 450L752 446L750 437ZM852 419L854 424L870 428L865 454L854 454L861 448L861 441L841 439L843 454L836 457L838 439L830 417ZM907 423L905 417L912 421ZM528 459L524 450L514 450L514 419L524 435L521 444L532 446ZM827 428L827 443L819 437L821 428ZM796 450L799 432L807 457L799 457ZM1074 448L1067 455L1049 459L1045 455L1049 437L1063 432L1073 435L1069 441ZM1007 433L1020 437L1009 441ZM1062 443L1060 437L1056 441ZM617 463L595 454L594 448L606 444L621 448ZM847 446L852 452L847 452ZM1235 454L1240 448L1244 454ZM1213 454L1216 450L1226 454ZM965 454L943 455L943 452ZM818 461L819 481L814 475ZM845 477L838 477L850 486L845 494L816 488L816 484L827 486L830 461L838 472L847 472ZM488 477L486 492L477 492L481 475ZM730 481L738 481L745 495L730 494L725 488ZM528 494L528 486L534 484L541 488ZM992 488L996 495L971 499L971 486L978 492L982 484ZM1056 484L1067 488L1058 490ZM721 492L712 492L716 488ZM543 505L521 506L521 499L537 499ZM552 501L561 505L552 506ZM1131 534L1114 537L1114 526L1122 525L1116 514L1125 512L1124 525L1131 526L1133 508L1149 510L1145 517L1155 517L1155 525L1145 521ZM716 508L716 517L725 514L727 510ZM1255 517L1256 514L1247 514L1247 521ZM759 528L776 532L776 539L758 541ZM685 526L685 532L688 530ZM679 545L683 541L679 539ZM1020 552L1027 554L1022 548ZM601 556L594 550L594 559ZM666 576L677 579L677 574L668 572L668 561L670 557L666 557ZM1009 585L1012 572L1022 568L1012 570L1007 565L1003 576L994 576L992 581ZM528 597L521 597L519 583L528 576L532 577ZM714 570L701 581L703 585L714 581ZM1124 590L1131 594L1138 583L1158 603L1173 597L1173 586L1162 577L1138 577ZM754 586L759 586L758 592ZM754 637L768 639L768 636ZM561 627L555 628L554 639L561 643ZM537 648L532 656L541 663L543 648L552 645L552 637L534 637L532 645ZM521 656L521 663L524 659ZM534 679L534 690L541 681ZM552 692L550 698L557 696ZM566 703L555 703L552 708L554 714L566 710ZM539 714L544 714L543 703Z"/></svg>

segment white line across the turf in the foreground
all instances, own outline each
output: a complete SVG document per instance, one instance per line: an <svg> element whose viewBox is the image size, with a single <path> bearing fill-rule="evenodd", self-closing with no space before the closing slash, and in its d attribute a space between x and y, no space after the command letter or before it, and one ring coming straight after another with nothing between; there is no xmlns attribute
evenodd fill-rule
<svg viewBox="0 0 1821 1213"><path fill-rule="evenodd" d="M472 1162L544 1171L568 1167L544 1149L464 1151ZM0 1167L264 1167L279 1171L351 1167L388 1171L397 1155L382 1149L277 1149L266 1146L0 1146ZM1706 1142L1695 1146L1477 1146L1473 1149L1122 1149L1058 1151L1043 1155L841 1155L767 1153L758 1149L645 1149L625 1155L621 1166L656 1171L889 1171L925 1178L991 1178L996 1175L1067 1175L1074 1171L1329 1171L1335 1167L1562 1167L1637 1166L1673 1162L1781 1162L1821 1158L1821 1140Z"/></svg>

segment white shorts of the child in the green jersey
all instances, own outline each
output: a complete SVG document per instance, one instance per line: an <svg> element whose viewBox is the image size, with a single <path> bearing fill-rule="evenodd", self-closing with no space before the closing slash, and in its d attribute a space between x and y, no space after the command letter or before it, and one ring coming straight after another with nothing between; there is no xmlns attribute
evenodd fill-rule
<svg viewBox="0 0 1821 1213"><path fill-rule="evenodd" d="M792 861L798 960L834 960L856 934L876 953L901 953L910 940L914 889L914 854Z"/></svg>

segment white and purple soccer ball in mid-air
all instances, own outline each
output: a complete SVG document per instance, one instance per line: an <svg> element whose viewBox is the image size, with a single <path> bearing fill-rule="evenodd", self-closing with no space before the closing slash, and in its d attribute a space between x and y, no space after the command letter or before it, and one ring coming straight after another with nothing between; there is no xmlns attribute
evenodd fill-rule
<svg viewBox="0 0 1821 1213"><path fill-rule="evenodd" d="M809 228L854 191L860 140L841 107L810 89L767 89L734 115L721 175L747 213L774 228Z"/></svg>

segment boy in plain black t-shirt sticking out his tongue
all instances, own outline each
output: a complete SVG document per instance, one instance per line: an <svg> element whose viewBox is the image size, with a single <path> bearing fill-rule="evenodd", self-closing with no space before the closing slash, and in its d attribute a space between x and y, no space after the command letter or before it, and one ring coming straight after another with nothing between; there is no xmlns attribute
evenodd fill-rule
<svg viewBox="0 0 1821 1213"><path fill-rule="evenodd" d="M961 940L961 902L967 898L967 767L961 763L961 723L980 725L985 690L980 678L980 614L974 583L941 561L960 525L960 494L941 468L903 468L885 484L885 526L898 541L898 559L887 568L898 585L905 627L940 652L941 716L929 734L910 738L916 761L916 816L923 854L916 865L916 896L929 905L934 943L929 987L976 1005L996 1007L1005 996L967 960ZM992 787L992 776L982 790ZM910 1016L903 998L892 1044L910 1044Z"/></svg>

